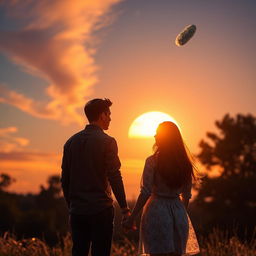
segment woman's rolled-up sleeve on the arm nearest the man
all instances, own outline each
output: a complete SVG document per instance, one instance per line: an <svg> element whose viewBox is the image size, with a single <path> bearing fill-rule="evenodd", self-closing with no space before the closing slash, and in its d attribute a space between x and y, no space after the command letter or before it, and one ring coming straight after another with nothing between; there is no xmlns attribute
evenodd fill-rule
<svg viewBox="0 0 256 256"><path fill-rule="evenodd" d="M149 197L153 189L154 167L152 160L148 158L145 162L143 174L140 182L140 193Z"/></svg>

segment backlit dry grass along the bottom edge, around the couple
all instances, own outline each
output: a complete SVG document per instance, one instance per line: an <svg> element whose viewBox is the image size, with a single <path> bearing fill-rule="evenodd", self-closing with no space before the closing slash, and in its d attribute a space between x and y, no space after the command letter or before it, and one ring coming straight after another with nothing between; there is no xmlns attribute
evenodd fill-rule
<svg viewBox="0 0 256 256"><path fill-rule="evenodd" d="M0 256L70 256L72 242L68 234L63 238L62 246L50 248L37 238L17 241L14 236L5 233L0 237ZM114 242L112 256L135 256L135 244L125 238ZM201 239L202 256L255 256L256 239L242 243L237 236L228 237L227 233L214 230L207 238Z"/></svg>

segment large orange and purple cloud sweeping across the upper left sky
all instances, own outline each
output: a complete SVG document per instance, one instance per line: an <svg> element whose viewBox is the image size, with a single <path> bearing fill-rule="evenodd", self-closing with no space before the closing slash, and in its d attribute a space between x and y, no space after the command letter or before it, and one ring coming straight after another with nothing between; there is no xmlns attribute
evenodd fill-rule
<svg viewBox="0 0 256 256"><path fill-rule="evenodd" d="M93 32L111 23L111 7L119 1L3 1L9 21L18 21L19 29L0 31L0 51L49 84L43 102L1 85L0 102L35 117L83 123L77 110L97 82Z"/></svg>

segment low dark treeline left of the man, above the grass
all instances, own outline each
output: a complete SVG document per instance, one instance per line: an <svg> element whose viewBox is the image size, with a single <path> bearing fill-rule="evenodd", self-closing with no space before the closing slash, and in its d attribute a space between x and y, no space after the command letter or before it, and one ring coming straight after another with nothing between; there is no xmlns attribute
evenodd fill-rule
<svg viewBox="0 0 256 256"><path fill-rule="evenodd" d="M11 177L0 176L0 232L20 238L38 237L54 245L67 233L68 211L61 196L60 178L51 176L38 194L6 192Z"/></svg>

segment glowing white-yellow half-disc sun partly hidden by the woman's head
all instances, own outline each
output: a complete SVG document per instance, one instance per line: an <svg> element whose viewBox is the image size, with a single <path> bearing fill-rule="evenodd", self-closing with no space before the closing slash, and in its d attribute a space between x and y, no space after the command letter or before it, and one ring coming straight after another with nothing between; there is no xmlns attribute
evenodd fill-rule
<svg viewBox="0 0 256 256"><path fill-rule="evenodd" d="M152 111L140 115L132 122L128 136L129 138L152 138L157 126L164 121L171 121L179 127L176 120L168 114Z"/></svg>

